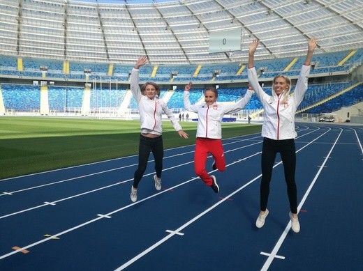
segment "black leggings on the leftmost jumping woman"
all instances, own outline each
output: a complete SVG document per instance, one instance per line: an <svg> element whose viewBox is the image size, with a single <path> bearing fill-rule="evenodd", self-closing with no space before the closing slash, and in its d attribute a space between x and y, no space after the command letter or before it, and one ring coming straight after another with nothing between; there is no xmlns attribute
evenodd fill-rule
<svg viewBox="0 0 363 271"><path fill-rule="evenodd" d="M140 134L139 142L139 165L133 176L133 187L138 188L142 176L144 176L147 160L149 160L150 150L154 155L155 160L155 171L156 176L161 178L161 171L163 170L163 157L164 157L164 147L163 147L163 137L144 137Z"/></svg>

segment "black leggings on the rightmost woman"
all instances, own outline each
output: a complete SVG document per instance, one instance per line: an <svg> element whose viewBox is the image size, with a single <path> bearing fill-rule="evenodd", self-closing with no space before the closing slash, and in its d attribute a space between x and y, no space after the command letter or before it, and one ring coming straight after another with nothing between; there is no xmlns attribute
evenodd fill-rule
<svg viewBox="0 0 363 271"><path fill-rule="evenodd" d="M293 214L296 214L297 189L295 183L296 153L294 139L263 139L261 158L262 179L260 185L261 210L265 211L267 208L267 201L269 199L269 183L271 181L272 168L274 167L274 161L277 153L280 153L281 160L283 162L286 185L288 186L288 199L290 202L290 210Z"/></svg>

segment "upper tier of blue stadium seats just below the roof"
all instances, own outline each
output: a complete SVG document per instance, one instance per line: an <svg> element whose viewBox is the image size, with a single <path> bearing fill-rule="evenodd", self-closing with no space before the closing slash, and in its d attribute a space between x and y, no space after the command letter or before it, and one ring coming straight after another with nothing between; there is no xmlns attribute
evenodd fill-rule
<svg viewBox="0 0 363 271"><path fill-rule="evenodd" d="M312 74L323 74L329 72L346 72L356 63L362 63L363 49L358 49L355 54L348 57L350 52L334 52L325 54L316 54L313 56ZM348 59L346 59L348 57ZM276 75L284 74L287 76L297 76L299 70L304 63L304 57L297 57L297 61L288 68L294 58L285 59L267 59L255 61L255 68L260 74L260 78L273 78ZM40 67L46 67L47 73L45 77L48 79L59 79L67 77L68 79L85 80L84 70L90 70L89 80L100 80L103 77L127 81L133 65L114 64L112 75L109 75L110 63L91 63L91 62L76 62L69 63L69 72L64 73L63 61L54 59L34 59L24 57L22 59L23 67L19 69L16 56L0 55L0 76L14 75L22 77L42 77ZM174 82L208 82L213 78L218 81L235 81L245 80L247 78L247 70L244 68L240 74L239 69L241 63L214 63L200 65L198 70L197 65L145 65L140 69L140 81L154 82L169 82L172 78L172 73L176 75L172 81ZM156 69L155 75L153 71ZM216 72L218 75L216 75Z"/></svg>

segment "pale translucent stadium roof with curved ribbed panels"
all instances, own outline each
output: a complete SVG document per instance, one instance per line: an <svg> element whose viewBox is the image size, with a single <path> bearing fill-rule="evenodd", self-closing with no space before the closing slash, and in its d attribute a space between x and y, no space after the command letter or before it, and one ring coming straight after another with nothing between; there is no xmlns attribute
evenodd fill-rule
<svg viewBox="0 0 363 271"><path fill-rule="evenodd" d="M304 55L312 37L316 54L363 47L363 0L134 1L0 0L0 52L160 65L245 63L253 39L255 59ZM210 53L215 36L234 46Z"/></svg>

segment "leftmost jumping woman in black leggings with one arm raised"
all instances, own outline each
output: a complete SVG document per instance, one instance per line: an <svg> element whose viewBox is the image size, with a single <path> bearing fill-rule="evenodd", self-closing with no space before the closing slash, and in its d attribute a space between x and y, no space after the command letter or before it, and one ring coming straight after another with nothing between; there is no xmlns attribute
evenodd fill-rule
<svg viewBox="0 0 363 271"><path fill-rule="evenodd" d="M139 141L139 163L133 178L131 186L131 201L138 199L138 185L147 168L150 150L154 155L155 171L154 175L156 190L161 189L161 171L163 170L163 137L162 137L162 114L165 113L172 126L178 132L180 137L188 139L188 134L182 130L177 118L168 109L165 102L158 98L160 87L154 82L146 82L140 89L139 86L139 69L147 62L146 56L140 56L131 71L131 91L133 97L138 103L140 112L141 134Z"/></svg>

